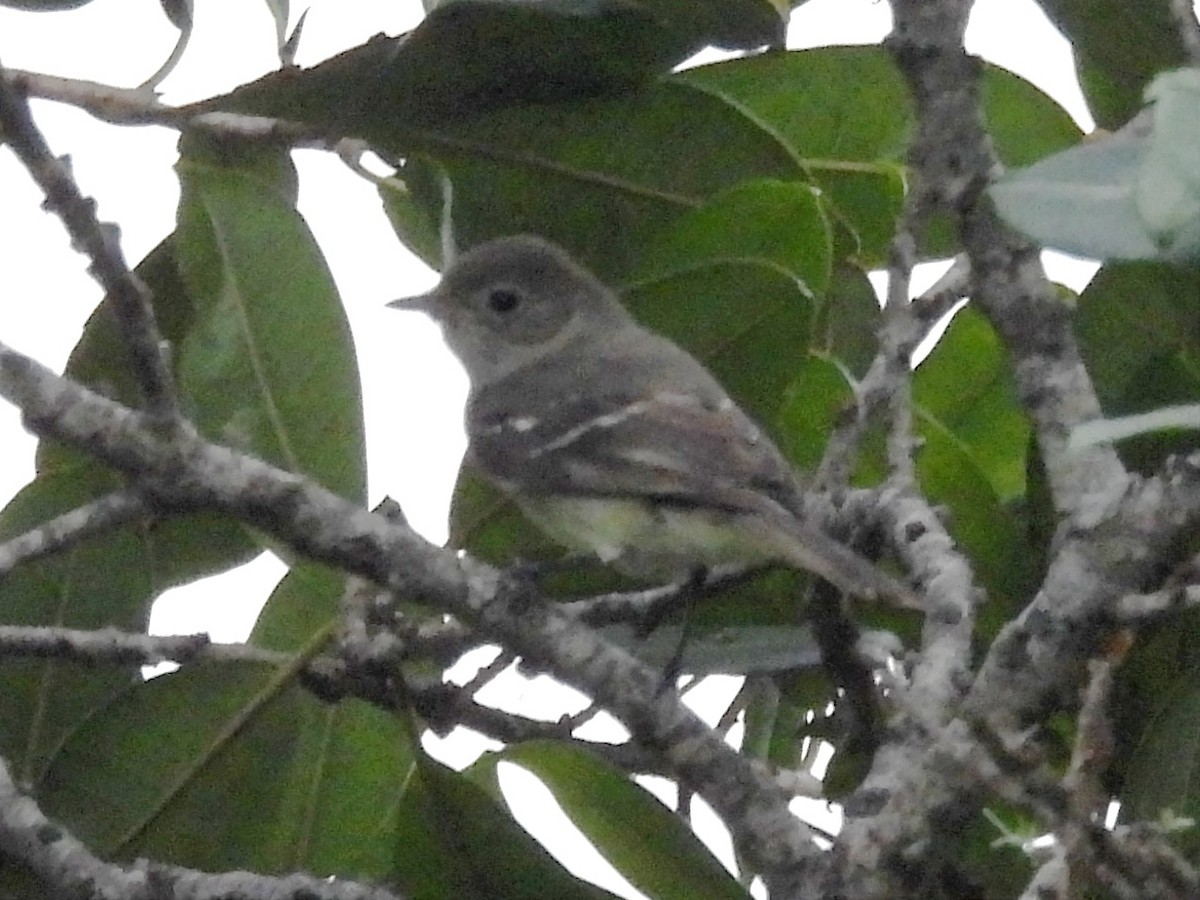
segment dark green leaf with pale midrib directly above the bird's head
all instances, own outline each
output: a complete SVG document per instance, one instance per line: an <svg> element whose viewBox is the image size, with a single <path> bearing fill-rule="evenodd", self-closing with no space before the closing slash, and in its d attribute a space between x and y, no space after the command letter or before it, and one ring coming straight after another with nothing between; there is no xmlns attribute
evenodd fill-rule
<svg viewBox="0 0 1200 900"><path fill-rule="evenodd" d="M440 221L449 179L460 246L533 232L610 281L713 194L745 179L802 174L737 109L674 83L619 100L504 108L424 132L380 119L367 137L410 155L402 176L426 221Z"/></svg>

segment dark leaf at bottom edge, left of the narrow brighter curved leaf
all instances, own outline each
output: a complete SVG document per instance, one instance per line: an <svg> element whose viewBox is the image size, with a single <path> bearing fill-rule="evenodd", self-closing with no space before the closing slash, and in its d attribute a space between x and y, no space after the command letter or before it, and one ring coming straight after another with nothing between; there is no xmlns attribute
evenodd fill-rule
<svg viewBox="0 0 1200 900"><path fill-rule="evenodd" d="M421 756L397 814L395 878L425 900L604 900L466 775Z"/></svg>

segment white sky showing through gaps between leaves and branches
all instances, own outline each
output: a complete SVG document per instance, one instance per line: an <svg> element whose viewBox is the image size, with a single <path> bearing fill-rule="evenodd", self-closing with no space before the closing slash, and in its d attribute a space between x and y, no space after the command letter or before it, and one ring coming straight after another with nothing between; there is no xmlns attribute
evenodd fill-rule
<svg viewBox="0 0 1200 900"><path fill-rule="evenodd" d="M312 0L307 6L300 65L326 59L379 31L398 34L422 14L419 0ZM890 10L882 0L811 0L794 14L790 43L875 43L889 26ZM0 8L0 61L8 67L133 86L158 67L174 41L175 31L158 0L92 0L60 13ZM1085 130L1091 128L1069 48L1032 0L977 2L967 46L1038 84ZM181 103L221 94L276 66L274 23L265 2L206 0L196 4L191 44L162 84L163 100ZM34 113L52 148L71 154L77 179L85 193L97 198L101 217L120 224L126 257L137 263L174 227L176 134L158 127L104 125L53 103L36 102ZM418 529L443 541L449 492L463 450L460 419L466 383L421 314L383 306L395 296L426 289L436 276L397 242L371 185L326 154L300 151L296 163L300 209L332 269L359 352L371 502L390 493ZM70 251L61 226L42 212L40 203L26 173L0 148L5 289L0 340L61 370L101 292L84 271L84 258ZM1068 283L1079 283L1081 277L1078 266L1069 265L1052 274ZM919 290L922 284L914 287ZM16 410L0 404L0 504L32 476L32 452L34 439L20 427ZM264 558L223 576L220 587L204 583L172 592L156 607L155 628L209 630L217 640L239 640L282 571L277 560ZM734 689L732 679L726 679L706 691L728 702ZM500 692L500 703L526 710L580 702L577 695L572 701L571 692L548 679L493 690ZM702 706L715 708L719 701L710 698ZM476 742L457 739L431 742L431 746L457 764L479 750ZM535 788L520 784L516 790L533 797ZM553 806L530 804L536 812L527 827L540 834L570 835L572 829L553 818ZM574 848L559 852L571 868L587 871L608 889L640 896L594 851L587 858L586 842L575 841ZM727 844L721 856L731 858Z"/></svg>

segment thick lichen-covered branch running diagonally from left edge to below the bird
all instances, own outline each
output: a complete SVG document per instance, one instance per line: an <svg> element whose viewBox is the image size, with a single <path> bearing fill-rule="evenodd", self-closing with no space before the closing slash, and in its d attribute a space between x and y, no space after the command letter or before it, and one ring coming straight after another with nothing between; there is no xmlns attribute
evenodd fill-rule
<svg viewBox="0 0 1200 900"><path fill-rule="evenodd" d="M0 396L20 407L36 433L137 475L151 508L224 511L296 552L450 612L486 640L586 691L718 810L762 871L796 871L820 856L787 808L798 787L811 785L800 785L798 773L775 773L740 756L673 691L661 689L658 672L545 602L528 583L433 547L406 526L299 475L210 444L186 425L163 434L146 414L4 344Z"/></svg>

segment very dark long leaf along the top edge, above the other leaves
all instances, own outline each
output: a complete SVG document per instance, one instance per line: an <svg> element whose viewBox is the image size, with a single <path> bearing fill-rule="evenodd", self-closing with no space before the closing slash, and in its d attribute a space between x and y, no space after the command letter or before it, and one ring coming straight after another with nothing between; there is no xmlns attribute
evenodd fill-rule
<svg viewBox="0 0 1200 900"><path fill-rule="evenodd" d="M443 2L412 34L284 70L205 107L365 133L380 116L427 126L510 104L612 95L709 43L780 42L770 0Z"/></svg>

